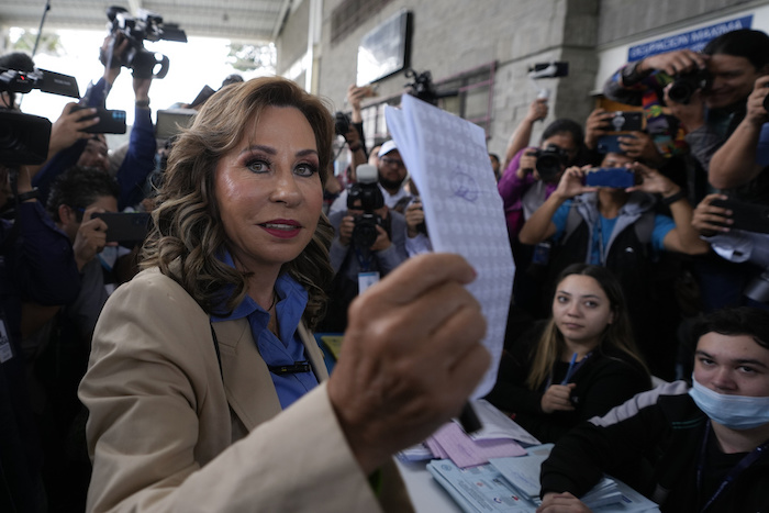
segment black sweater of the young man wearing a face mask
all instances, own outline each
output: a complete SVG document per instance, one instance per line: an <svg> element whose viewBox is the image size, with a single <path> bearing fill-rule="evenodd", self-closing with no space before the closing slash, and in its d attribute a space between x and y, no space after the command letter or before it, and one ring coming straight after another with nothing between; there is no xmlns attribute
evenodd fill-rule
<svg viewBox="0 0 769 513"><path fill-rule="evenodd" d="M600 420L564 436L542 465L542 493L584 494L602 472L620 477L660 504L662 512L701 511L723 477L744 455L725 455L713 440L703 466L702 492L696 469L707 417L687 393L683 381L642 393ZM707 513L769 512L769 455L727 487ZM650 472L640 469L650 464Z"/></svg>

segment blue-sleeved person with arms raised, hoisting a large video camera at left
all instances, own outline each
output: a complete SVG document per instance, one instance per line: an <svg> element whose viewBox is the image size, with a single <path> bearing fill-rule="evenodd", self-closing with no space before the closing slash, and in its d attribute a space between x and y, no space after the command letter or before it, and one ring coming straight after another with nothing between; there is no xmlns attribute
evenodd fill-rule
<svg viewBox="0 0 769 513"><path fill-rule="evenodd" d="M104 65L104 75L99 81L89 87L85 97L88 107L103 107L107 94L121 73L123 54L130 48L130 41L122 33L109 35L101 47L100 60ZM141 75L141 78L137 77ZM146 177L155 168L155 130L149 109L149 86L152 76L134 73L133 89L136 98L134 125L125 158L115 176L120 185L118 208L133 207L143 199L143 186ZM69 110L68 110L69 109ZM63 116L71 115L71 107L65 108ZM78 115L79 112L76 113ZM58 123L58 122L57 122ZM66 129L65 129L66 130ZM53 136L52 136L53 137ZM33 185L41 191L42 198L47 198L52 182L58 175L78 164L92 166L109 171L105 158L107 143L102 136L93 135L87 140L77 138L66 149L51 158L33 178Z"/></svg>

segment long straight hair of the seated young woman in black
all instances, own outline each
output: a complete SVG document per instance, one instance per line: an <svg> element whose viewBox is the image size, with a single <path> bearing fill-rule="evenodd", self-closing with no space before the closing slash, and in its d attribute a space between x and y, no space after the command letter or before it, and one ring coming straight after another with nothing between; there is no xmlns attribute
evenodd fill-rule
<svg viewBox="0 0 769 513"><path fill-rule="evenodd" d="M612 309L612 313L614 313L614 320L601 334L601 342L595 350L601 353L606 347L614 347L625 353L631 359L636 360L648 375L649 371L633 337L633 328L627 313L625 294L622 292L622 286L612 271L600 266L572 264L564 269L558 276L558 279L556 279L553 299L555 299L558 285L571 275L589 276L594 279L606 294L606 298L609 298L609 304ZM528 370L528 378L526 379L526 384L531 390L538 390L539 387L547 381L553 371L553 366L560 358L565 348L566 342L564 342L564 335L560 333L560 330L558 330L558 326L556 326L553 315L550 315L550 320L534 348L534 358L532 360L532 367Z"/></svg>

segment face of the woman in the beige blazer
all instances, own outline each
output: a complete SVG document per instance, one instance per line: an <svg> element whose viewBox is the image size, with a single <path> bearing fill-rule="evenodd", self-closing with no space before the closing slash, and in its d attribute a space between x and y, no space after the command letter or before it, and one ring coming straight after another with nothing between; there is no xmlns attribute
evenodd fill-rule
<svg viewBox="0 0 769 513"><path fill-rule="evenodd" d="M323 186L315 134L292 107L269 107L216 165L215 198L236 264L279 269L310 243Z"/></svg>

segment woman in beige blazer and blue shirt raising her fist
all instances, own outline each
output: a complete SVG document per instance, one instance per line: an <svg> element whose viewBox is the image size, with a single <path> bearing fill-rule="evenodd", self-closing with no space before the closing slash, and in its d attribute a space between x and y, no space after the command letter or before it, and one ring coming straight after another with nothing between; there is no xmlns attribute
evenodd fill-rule
<svg viewBox="0 0 769 513"><path fill-rule="evenodd" d="M310 330L333 134L317 98L261 78L175 144L144 270L108 301L80 386L88 511L410 511L391 456L457 415L484 324L466 261L415 259L353 305L328 377Z"/></svg>

